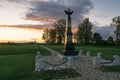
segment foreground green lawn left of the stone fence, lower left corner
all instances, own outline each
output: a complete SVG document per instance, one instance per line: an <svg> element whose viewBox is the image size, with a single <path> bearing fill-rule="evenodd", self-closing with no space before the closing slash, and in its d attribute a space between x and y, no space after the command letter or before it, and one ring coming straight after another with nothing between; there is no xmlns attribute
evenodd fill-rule
<svg viewBox="0 0 120 80"><path fill-rule="evenodd" d="M0 80L29 78L33 71L34 54L0 56Z"/></svg>

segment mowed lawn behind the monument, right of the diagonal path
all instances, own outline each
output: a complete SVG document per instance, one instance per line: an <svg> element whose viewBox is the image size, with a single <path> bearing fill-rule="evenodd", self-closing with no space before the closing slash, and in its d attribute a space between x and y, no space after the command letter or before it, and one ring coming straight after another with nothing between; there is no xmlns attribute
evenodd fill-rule
<svg viewBox="0 0 120 80"><path fill-rule="evenodd" d="M49 48L52 48L58 52L63 53L64 45L46 45ZM94 45L77 45L75 46L76 51L83 51L83 54L86 55L87 51L91 52L92 56L96 56L98 52L102 53L103 58L113 59L113 55L120 56L120 46L94 46Z"/></svg>

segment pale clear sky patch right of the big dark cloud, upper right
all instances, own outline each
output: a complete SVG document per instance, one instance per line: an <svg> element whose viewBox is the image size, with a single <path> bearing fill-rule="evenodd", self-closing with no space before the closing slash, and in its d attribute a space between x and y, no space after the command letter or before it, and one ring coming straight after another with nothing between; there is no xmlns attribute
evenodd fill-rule
<svg viewBox="0 0 120 80"><path fill-rule="evenodd" d="M112 22L112 18L120 16L120 0L91 0L94 9L90 11L88 17L97 26L107 26Z"/></svg>

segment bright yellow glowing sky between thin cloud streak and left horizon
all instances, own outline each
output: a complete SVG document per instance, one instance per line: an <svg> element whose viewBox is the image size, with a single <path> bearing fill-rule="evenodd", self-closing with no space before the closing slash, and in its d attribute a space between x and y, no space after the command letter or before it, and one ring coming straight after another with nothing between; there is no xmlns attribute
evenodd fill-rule
<svg viewBox="0 0 120 80"><path fill-rule="evenodd" d="M39 42L42 43L43 30L14 27L0 27L0 42Z"/></svg>

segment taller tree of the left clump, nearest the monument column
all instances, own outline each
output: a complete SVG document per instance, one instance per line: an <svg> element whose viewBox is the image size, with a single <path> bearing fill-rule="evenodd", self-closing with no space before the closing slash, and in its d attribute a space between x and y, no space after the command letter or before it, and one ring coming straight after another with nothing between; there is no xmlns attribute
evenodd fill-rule
<svg viewBox="0 0 120 80"><path fill-rule="evenodd" d="M57 43L61 44L65 40L66 21L64 19L58 20L53 26L56 31Z"/></svg>

